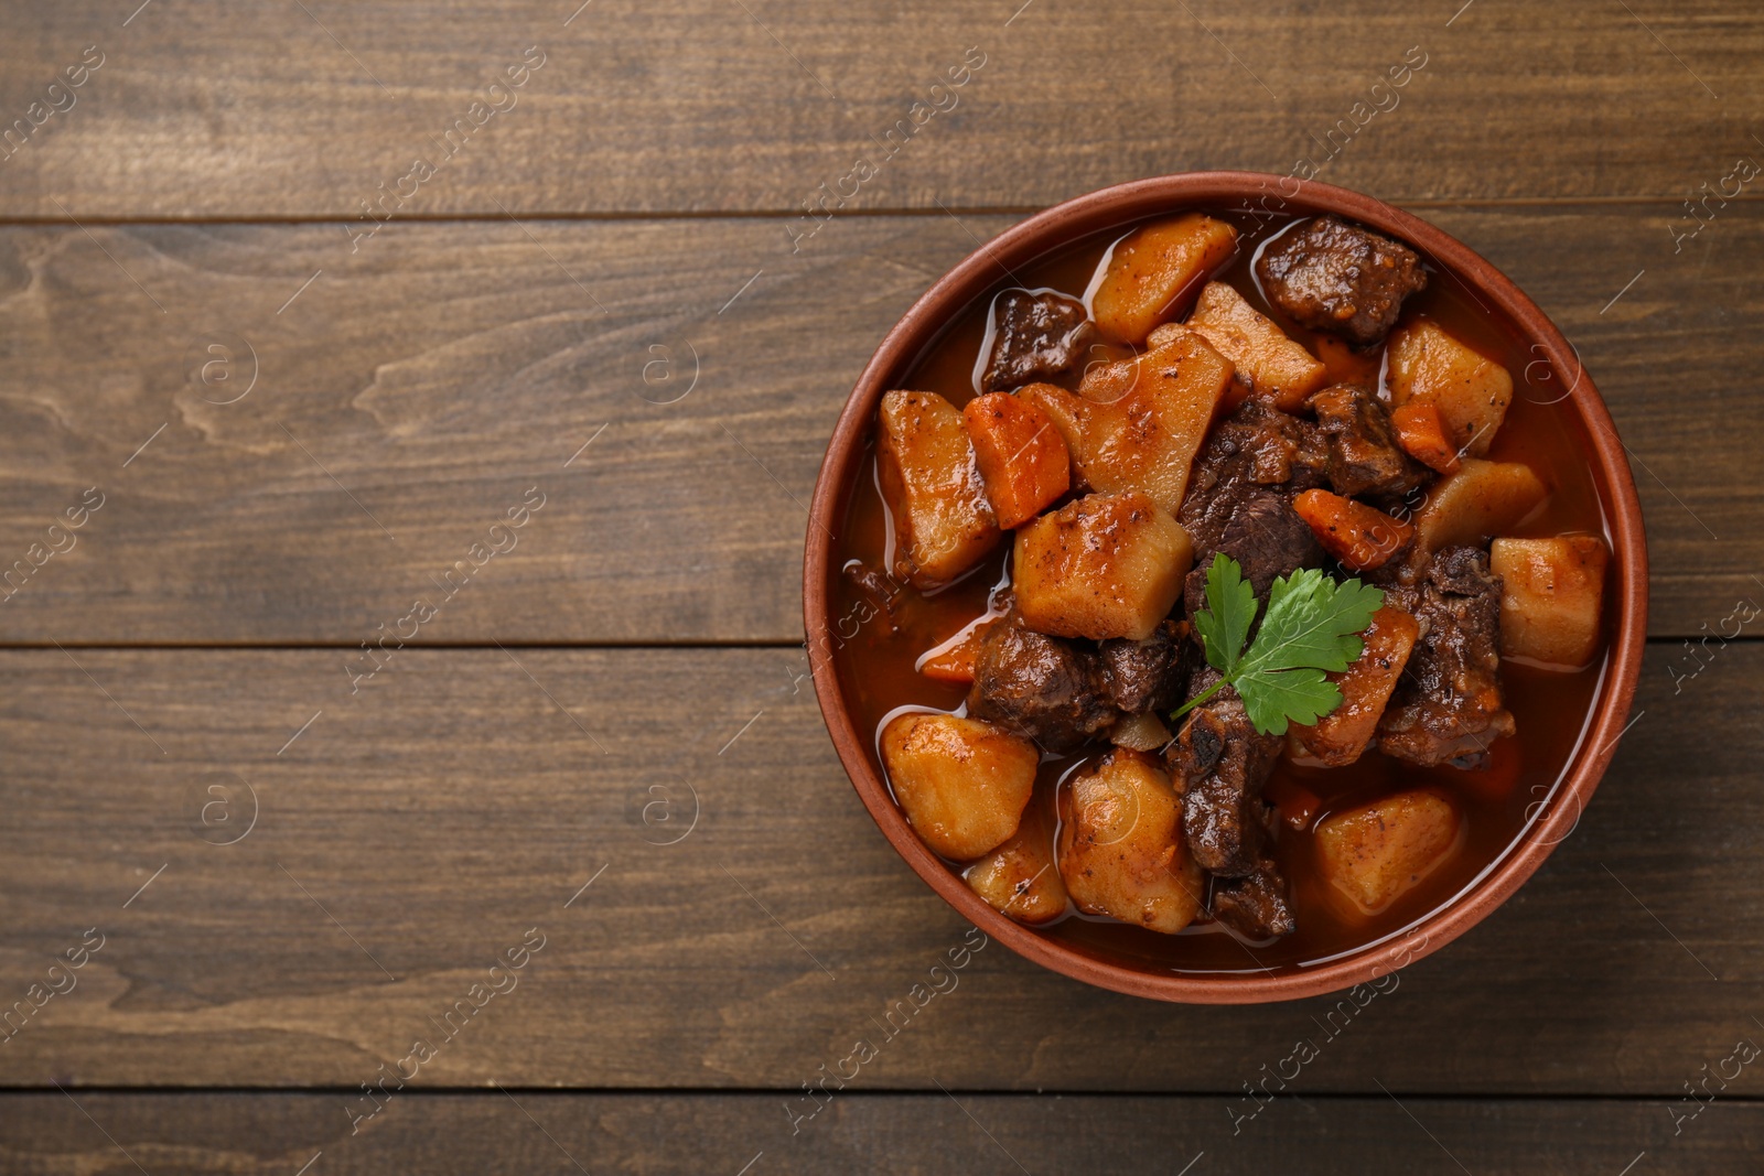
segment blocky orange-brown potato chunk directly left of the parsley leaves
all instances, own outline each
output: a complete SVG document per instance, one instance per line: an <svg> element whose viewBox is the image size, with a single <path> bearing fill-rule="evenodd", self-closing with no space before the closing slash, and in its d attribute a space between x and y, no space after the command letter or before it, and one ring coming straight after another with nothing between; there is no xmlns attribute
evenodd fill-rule
<svg viewBox="0 0 1764 1176"><path fill-rule="evenodd" d="M1182 594L1194 545L1147 495L1092 494L1020 529L1013 562L1027 628L1143 642Z"/></svg>

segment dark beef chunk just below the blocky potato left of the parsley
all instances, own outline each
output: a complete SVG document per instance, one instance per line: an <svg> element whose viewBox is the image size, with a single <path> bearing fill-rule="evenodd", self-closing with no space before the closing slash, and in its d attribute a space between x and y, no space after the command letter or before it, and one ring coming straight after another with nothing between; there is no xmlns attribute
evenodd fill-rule
<svg viewBox="0 0 1764 1176"><path fill-rule="evenodd" d="M1030 633L1011 617L981 638L968 714L1034 739L1044 751L1073 751L1120 718L1099 679L1094 652Z"/></svg>

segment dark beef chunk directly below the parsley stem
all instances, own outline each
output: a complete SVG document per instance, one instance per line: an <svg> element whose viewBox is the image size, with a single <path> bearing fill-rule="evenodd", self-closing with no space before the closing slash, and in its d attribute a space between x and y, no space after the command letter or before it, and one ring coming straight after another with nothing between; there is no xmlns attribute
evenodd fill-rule
<svg viewBox="0 0 1764 1176"><path fill-rule="evenodd" d="M1214 670L1196 674L1191 691L1200 693L1217 677ZM1261 786L1282 744L1279 735L1256 732L1230 686L1189 712L1166 758L1182 781L1182 829L1201 869L1247 878L1267 857Z"/></svg>

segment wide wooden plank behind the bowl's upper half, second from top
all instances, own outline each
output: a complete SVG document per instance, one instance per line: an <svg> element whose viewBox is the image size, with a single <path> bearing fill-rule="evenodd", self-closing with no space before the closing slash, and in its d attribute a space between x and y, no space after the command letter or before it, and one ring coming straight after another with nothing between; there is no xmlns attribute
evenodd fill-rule
<svg viewBox="0 0 1764 1176"><path fill-rule="evenodd" d="M1732 326L1764 314L1764 217L1674 256L1660 205L1429 215L1600 381L1637 453L1653 633L1764 592L1764 353ZM517 550L413 640L801 640L803 502L845 393L1005 224L847 219L794 257L767 219L400 224L358 254L340 226L4 229L0 566L106 497L0 640L356 645L534 487Z"/></svg>

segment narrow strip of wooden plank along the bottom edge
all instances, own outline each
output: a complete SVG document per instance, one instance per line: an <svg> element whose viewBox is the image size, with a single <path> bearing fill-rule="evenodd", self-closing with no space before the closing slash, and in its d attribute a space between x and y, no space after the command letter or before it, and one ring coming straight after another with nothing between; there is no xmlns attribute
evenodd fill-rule
<svg viewBox="0 0 1764 1176"><path fill-rule="evenodd" d="M1671 1104L1284 1100L1231 1135L1222 1098L843 1095L790 1134L774 1095L402 1095L358 1135L346 1091L0 1098L21 1176L348 1172L1755 1172L1764 1107L1716 1102L1681 1135ZM88 1118L90 1116L90 1118ZM1413 1118L1411 1118L1413 1116ZM1256 1130L1261 1128L1261 1130ZM106 1134L109 1139L106 1139ZM743 1165L748 1167L743 1167ZM1184 1169L1191 1164L1191 1169Z"/></svg>

